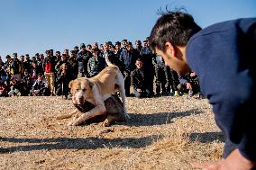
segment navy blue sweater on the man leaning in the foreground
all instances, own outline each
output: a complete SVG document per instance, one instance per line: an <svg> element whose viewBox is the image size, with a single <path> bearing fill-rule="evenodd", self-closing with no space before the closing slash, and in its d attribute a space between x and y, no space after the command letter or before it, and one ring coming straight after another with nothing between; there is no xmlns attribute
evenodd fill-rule
<svg viewBox="0 0 256 170"><path fill-rule="evenodd" d="M256 18L216 23L187 43L187 63L215 121L243 157L256 160Z"/></svg>

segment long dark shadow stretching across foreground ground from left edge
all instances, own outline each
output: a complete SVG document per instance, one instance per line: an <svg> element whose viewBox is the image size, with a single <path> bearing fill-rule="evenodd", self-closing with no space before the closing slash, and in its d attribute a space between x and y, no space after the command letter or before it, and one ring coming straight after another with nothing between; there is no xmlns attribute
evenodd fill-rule
<svg viewBox="0 0 256 170"><path fill-rule="evenodd" d="M55 138L55 139L20 139L1 137L0 141L21 143L19 146L0 148L0 154L31 150L52 149L96 149L96 148L145 148L151 145L160 136L127 139L101 139L101 138ZM22 144L24 143L24 144ZM29 144L28 144L29 143ZM17 145L17 144L14 144Z"/></svg>

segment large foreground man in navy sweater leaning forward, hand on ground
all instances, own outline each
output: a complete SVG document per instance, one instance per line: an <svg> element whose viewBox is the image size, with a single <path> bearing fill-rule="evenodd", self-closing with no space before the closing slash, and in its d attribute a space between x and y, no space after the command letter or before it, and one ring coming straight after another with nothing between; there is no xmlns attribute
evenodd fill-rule
<svg viewBox="0 0 256 170"><path fill-rule="evenodd" d="M150 44L179 75L197 73L201 92L224 131L223 159L193 166L255 169L256 18L220 22L201 30L190 14L162 13L151 31Z"/></svg>

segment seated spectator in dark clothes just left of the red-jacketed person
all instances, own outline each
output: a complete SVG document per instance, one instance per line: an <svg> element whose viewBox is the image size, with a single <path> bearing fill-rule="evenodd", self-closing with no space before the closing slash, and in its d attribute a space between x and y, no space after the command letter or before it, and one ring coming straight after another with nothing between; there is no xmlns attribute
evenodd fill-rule
<svg viewBox="0 0 256 170"><path fill-rule="evenodd" d="M32 90L30 95L36 95L36 96L50 95L50 89L46 84L42 73L38 74L38 79L32 85Z"/></svg>

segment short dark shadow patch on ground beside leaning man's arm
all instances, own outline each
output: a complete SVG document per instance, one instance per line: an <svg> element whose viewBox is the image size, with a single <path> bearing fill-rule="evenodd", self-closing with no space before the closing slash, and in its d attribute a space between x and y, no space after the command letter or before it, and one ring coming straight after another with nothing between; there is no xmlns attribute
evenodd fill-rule
<svg viewBox="0 0 256 170"><path fill-rule="evenodd" d="M224 142L224 134L222 132L191 133L189 139L192 142L199 141L200 143Z"/></svg>

